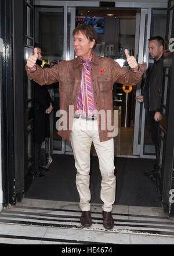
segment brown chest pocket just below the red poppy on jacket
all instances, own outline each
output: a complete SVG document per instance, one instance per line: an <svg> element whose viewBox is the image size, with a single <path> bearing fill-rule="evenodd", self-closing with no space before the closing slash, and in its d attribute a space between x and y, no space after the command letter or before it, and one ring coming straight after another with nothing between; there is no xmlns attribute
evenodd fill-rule
<svg viewBox="0 0 174 256"><path fill-rule="evenodd" d="M99 84L100 91L113 90L113 76L112 74L106 74L97 77L97 84Z"/></svg>

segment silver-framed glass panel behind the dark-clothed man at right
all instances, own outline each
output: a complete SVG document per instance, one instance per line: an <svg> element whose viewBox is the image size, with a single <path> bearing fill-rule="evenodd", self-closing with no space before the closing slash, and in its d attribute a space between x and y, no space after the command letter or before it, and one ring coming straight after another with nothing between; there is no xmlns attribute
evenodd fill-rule
<svg viewBox="0 0 174 256"><path fill-rule="evenodd" d="M147 62L148 67L153 65L153 59L148 56L148 39L155 35L165 37L166 29L166 9L148 8L141 10L140 41L139 41L139 62ZM137 87L136 95L140 95L146 79L146 72ZM147 111L144 104L136 102L136 124L134 130L133 154L142 158L155 159L155 146L151 140L151 130Z"/></svg>

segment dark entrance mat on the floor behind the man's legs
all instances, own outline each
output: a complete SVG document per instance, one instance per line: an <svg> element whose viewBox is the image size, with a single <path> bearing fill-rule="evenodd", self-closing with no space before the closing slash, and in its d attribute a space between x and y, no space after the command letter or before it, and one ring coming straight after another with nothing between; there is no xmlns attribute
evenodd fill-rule
<svg viewBox="0 0 174 256"><path fill-rule="evenodd" d="M53 155L53 161L45 177L35 177L26 198L79 202L75 185L73 155ZM145 207L161 207L155 183L144 172L152 170L154 160L142 158L114 158L117 180L115 204ZM91 202L100 200L101 175L97 157L90 159Z"/></svg>

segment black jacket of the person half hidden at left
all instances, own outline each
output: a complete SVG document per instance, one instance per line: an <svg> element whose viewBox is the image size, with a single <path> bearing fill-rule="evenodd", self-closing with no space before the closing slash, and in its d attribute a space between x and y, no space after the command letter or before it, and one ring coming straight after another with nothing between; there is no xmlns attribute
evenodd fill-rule
<svg viewBox="0 0 174 256"><path fill-rule="evenodd" d="M42 65L42 61L37 61L39 66ZM45 67L49 65L45 64ZM46 109L49 108L52 98L50 98L49 92L46 86L40 86L34 82L34 142L42 143L45 137L50 137L49 127L49 114L46 114Z"/></svg>

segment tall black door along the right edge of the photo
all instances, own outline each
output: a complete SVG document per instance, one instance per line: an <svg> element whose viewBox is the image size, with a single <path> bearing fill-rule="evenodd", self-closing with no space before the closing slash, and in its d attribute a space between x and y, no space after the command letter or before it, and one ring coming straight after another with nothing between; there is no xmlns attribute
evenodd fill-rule
<svg viewBox="0 0 174 256"><path fill-rule="evenodd" d="M162 84L162 120L158 134L158 172L156 187L163 207L169 216L174 216L174 120L173 120L173 1L168 1L168 21L165 34L165 54Z"/></svg>

